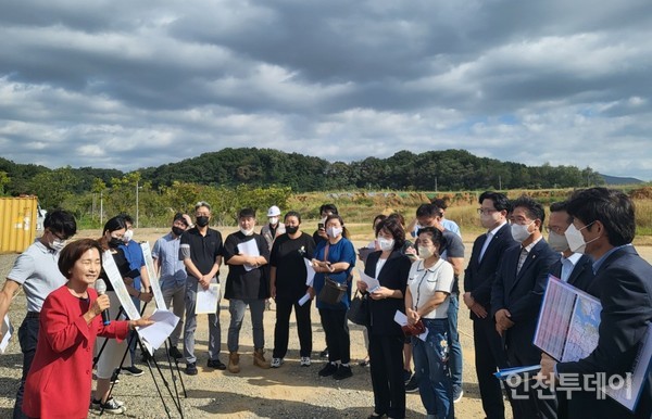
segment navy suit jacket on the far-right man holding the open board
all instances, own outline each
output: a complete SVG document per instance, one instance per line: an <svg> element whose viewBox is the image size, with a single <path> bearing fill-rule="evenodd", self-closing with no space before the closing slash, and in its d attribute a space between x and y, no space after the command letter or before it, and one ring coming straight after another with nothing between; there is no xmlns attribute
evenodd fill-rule
<svg viewBox="0 0 652 419"><path fill-rule="evenodd" d="M612 253L600 266L589 287L602 304L598 347L576 363L560 363L559 373L622 377L631 370L639 343L652 322L652 266L643 261L634 246ZM579 382L582 382L580 378ZM597 399L595 392L572 393L568 401L570 417L582 418L652 418L652 370L648 377L634 414L609 396Z"/></svg>

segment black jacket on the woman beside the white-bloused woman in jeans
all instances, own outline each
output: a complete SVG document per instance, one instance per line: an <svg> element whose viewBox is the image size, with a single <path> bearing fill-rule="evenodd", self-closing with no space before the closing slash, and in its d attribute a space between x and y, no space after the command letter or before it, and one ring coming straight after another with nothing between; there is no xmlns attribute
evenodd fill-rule
<svg viewBox="0 0 652 419"><path fill-rule="evenodd" d="M376 265L383 252L377 251L367 256L364 266L364 272L372 278L376 278ZM410 276L410 267L412 262L400 250L389 254L387 262L383 265L383 269L378 274L378 282L381 287L390 290L401 290L405 296L405 288L408 287L408 277ZM386 335L403 335L403 330L393 321L397 310L405 313L404 299L368 299L368 308L371 314L371 325L367 328L372 334Z"/></svg>

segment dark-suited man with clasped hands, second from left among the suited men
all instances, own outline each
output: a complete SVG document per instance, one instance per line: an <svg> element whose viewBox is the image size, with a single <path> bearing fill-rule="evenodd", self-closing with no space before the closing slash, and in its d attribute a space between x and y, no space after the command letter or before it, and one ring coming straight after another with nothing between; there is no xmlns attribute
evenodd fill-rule
<svg viewBox="0 0 652 419"><path fill-rule="evenodd" d="M532 339L548 272L560 254L541 234L546 220L541 204L521 196L512 207L512 237L521 244L503 254L491 290L491 315L503 338L510 367L523 367L536 365L541 358ZM514 418L554 417L554 399L537 401L537 392L527 384L523 382L510 391Z"/></svg>

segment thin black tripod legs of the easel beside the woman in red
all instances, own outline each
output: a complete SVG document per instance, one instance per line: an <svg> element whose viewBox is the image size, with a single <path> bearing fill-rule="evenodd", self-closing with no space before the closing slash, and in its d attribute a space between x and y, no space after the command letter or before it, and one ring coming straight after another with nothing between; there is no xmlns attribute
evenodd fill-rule
<svg viewBox="0 0 652 419"><path fill-rule="evenodd" d="M147 308L147 303L142 307L142 310L140 313L141 316L145 313L146 308ZM115 320L117 320L123 313L124 313L124 309L121 306L120 309L118 309L118 312L117 312L117 315L115 316ZM111 388L109 389L109 395L108 395L106 399L109 399L111 397L111 393L113 392L113 386L115 385L117 377L120 376L120 371L122 369L122 365L124 364L125 359L127 358L127 354L129 353L129 346L131 345L133 340L137 335L138 335L137 333L129 333L129 340L127 342L127 347L125 348L125 353L124 353L124 355L122 357L120 366L115 369L115 371L113 371L113 374L111 376L111 381L112 382L111 382ZM104 343L102 344L102 347L100 348L98 355L93 358L93 364L92 364L93 368L96 367L98 360L100 359L100 356L102 355L102 352L104 351L104 347L106 346L108 342L109 342L109 339L106 339L104 341ZM156 378L154 376L154 371L153 371L152 365L151 365L152 361L154 364L154 367L159 371L159 374L161 376L161 379L163 380L163 384L167 389L167 392L168 392L170 396L172 397L173 403L174 403L175 407L177 408L177 411L179 412L179 415L180 415L180 417L183 419L184 418L184 410L183 410L181 401L180 401L180 397L179 397L179 392L178 392L178 389L177 389L177 385L176 385L176 377L174 374L174 369L172 367L172 361L170 360L170 353L167 351L167 342L165 343L165 348L166 348L165 353L167 354L167 361L168 361L168 365L170 365L170 371L171 371L171 374L172 374L172 381L174 383L174 389L175 389L176 397L175 397L175 394L172 393L170 384L167 383L167 380L165 380L165 377L163 376L163 371L159 367L159 364L156 363L156 359L154 358L154 356L149 356L149 353L147 352L146 347L143 346L142 342L139 339L138 339L138 345L140 346L141 353L148 354L148 356L146 357L147 367L148 367L148 369L150 371L150 374L152 377L152 381L154 382L154 386L156 388L156 392L159 393L159 397L161 398L161 403L163 404L163 408L165 409L165 414L167 415L167 417L170 419L172 419L170 409L167 408L167 405L165 404L165 397L163 396L163 393L161 392L161 388L159 386L159 383L158 383ZM179 380L181 382L181 388L184 389L184 396L187 398L188 395L186 394L186 386L184 385L184 381L181 379L181 373L179 371L179 365L178 365L178 361L176 359L175 359L175 364L176 364L176 370L177 370L177 373L178 373L178 378L179 378ZM100 416L102 416L103 412L104 412L104 409L101 408L100 409Z"/></svg>

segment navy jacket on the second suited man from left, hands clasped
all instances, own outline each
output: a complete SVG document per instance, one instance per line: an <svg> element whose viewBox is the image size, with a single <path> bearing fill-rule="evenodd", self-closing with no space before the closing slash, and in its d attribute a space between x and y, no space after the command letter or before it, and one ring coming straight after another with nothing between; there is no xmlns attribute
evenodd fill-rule
<svg viewBox="0 0 652 419"><path fill-rule="evenodd" d="M561 256L541 239L516 274L521 244L503 254L491 290L491 316L502 308L510 312L514 326L505 332L507 353L517 352L522 359L537 364L541 360L541 351L532 344L537 318L548 284L548 272Z"/></svg>

